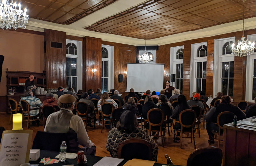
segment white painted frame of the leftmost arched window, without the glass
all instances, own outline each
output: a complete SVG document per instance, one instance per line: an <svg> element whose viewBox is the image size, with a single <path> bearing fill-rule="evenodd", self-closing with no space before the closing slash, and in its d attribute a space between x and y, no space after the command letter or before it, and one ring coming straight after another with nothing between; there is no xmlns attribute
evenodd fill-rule
<svg viewBox="0 0 256 166"><path fill-rule="evenodd" d="M77 49L77 54L76 55L72 55L72 54L66 54L66 58L76 58L76 91L78 91L79 89L82 89L83 85L83 56L82 56L82 41L75 41L75 40L66 40L66 48L67 48L67 44L68 43L73 43L76 45L76 49ZM66 64L67 65L67 64ZM66 71L66 78L67 78L67 71ZM72 77L72 76L71 76ZM72 79L71 79L72 81ZM66 81L67 82L67 81ZM65 87L67 87L67 85L65 85ZM72 82L71 82L71 87L72 87Z"/></svg>

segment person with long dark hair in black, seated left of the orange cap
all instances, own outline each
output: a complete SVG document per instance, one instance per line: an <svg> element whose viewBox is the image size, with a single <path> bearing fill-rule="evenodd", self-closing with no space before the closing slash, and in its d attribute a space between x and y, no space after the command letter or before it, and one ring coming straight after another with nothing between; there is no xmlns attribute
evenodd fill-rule
<svg viewBox="0 0 256 166"><path fill-rule="evenodd" d="M192 108L188 105L186 97L183 94L180 94L178 96L178 105L172 112L172 119L176 119L176 121L179 121L180 112L185 109L192 109ZM175 122L173 128L180 129L181 128L180 123ZM177 135L180 136L180 132L177 132ZM175 137L174 142L180 142L180 138Z"/></svg>

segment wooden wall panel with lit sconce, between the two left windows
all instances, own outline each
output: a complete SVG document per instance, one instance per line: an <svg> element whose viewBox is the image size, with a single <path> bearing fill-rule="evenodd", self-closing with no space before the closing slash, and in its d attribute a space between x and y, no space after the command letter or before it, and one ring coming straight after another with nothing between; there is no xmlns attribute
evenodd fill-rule
<svg viewBox="0 0 256 166"><path fill-rule="evenodd" d="M83 42L83 90L101 88L101 39L84 37ZM92 69L96 69L95 75Z"/></svg>

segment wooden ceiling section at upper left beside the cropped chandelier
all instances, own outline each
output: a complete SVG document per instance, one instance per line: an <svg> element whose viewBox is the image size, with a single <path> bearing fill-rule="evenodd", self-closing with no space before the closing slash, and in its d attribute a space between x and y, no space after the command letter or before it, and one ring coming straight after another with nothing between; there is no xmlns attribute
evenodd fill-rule
<svg viewBox="0 0 256 166"><path fill-rule="evenodd" d="M18 0L29 18L71 24L117 0Z"/></svg>

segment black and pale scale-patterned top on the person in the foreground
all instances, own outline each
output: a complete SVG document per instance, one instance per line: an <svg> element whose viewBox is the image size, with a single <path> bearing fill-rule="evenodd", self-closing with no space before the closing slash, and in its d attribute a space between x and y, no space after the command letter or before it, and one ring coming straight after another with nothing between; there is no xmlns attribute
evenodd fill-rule
<svg viewBox="0 0 256 166"><path fill-rule="evenodd" d="M111 156L117 157L117 151L120 143L124 140L127 140L129 138L140 138L143 140L147 140L150 142L152 149L153 149L153 158L152 160L157 160L158 155L158 145L156 144L155 140L151 139L148 134L142 129L137 127L136 131L133 131L130 134L125 133L124 131L118 131L116 127L112 128L108 132L107 137L107 145L106 149L110 153Z"/></svg>

